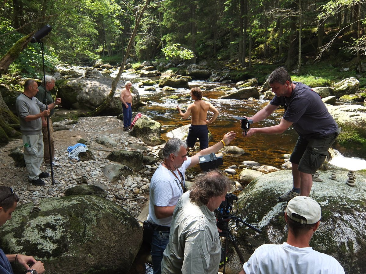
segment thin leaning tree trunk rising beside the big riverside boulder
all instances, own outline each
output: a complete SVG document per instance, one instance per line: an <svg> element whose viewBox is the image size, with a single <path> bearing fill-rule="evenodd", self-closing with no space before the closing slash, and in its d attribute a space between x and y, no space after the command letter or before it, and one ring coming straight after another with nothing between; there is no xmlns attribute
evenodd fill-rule
<svg viewBox="0 0 366 274"><path fill-rule="evenodd" d="M130 40L128 41L126 54L124 54L123 61L122 61L121 66L118 70L116 78L112 81L111 92L109 92L107 98L105 98L103 103L100 106L98 106L96 109L94 109L93 111L89 112L88 115L97 116L101 111L103 111L108 106L109 102L111 102L111 100L112 100L112 98L113 98L113 96L116 92L117 83L118 83L119 79L121 78L124 66L126 65L126 60L128 58L128 55L130 54L132 43L134 42L134 39L135 39L135 36L136 36L136 33L137 33L137 29L140 25L140 21L142 19L143 13L145 12L147 6L149 5L149 2L150 2L150 0L146 0L145 5L141 9L140 15L139 15L138 19L136 20L134 30L132 31Z"/></svg>

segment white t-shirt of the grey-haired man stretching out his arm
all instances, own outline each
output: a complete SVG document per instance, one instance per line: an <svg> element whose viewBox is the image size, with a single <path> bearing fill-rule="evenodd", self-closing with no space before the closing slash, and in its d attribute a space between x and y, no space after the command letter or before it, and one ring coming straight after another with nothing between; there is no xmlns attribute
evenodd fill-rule
<svg viewBox="0 0 366 274"><path fill-rule="evenodd" d="M186 169L190 164L191 159L188 157L187 160L183 162L182 167L178 168L178 170L182 173L183 179ZM170 227L172 216L162 219L156 218L154 205L173 206L176 205L178 199L180 196L182 196L183 190L180 186L180 181L182 178L177 170L175 170L174 173L179 180L170 170L160 164L151 178L149 215L147 216L147 221L151 222L152 224ZM183 186L185 186L184 180Z"/></svg>

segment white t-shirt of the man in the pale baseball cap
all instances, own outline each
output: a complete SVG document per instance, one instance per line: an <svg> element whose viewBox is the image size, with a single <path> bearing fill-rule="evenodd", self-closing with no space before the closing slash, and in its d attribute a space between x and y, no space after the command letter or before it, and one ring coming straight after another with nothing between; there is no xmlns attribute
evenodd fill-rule
<svg viewBox="0 0 366 274"><path fill-rule="evenodd" d="M245 274L344 274L343 267L332 256L288 243L263 244L243 269Z"/></svg>

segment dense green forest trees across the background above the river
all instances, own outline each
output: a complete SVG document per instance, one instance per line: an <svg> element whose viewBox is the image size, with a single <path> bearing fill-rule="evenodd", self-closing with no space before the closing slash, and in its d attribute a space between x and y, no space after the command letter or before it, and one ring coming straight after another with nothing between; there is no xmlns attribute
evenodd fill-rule
<svg viewBox="0 0 366 274"><path fill-rule="evenodd" d="M1 56L20 38L50 24L52 31L42 40L49 68L62 62L90 65L99 58L120 63L143 5L134 0L0 3ZM338 55L354 59L360 69L366 53L364 26L363 0L155 0L143 14L131 56L135 61L230 61L249 68L255 60L267 59L300 68ZM172 51L173 45L179 47ZM37 43L29 44L10 73L35 77L39 53Z"/></svg>

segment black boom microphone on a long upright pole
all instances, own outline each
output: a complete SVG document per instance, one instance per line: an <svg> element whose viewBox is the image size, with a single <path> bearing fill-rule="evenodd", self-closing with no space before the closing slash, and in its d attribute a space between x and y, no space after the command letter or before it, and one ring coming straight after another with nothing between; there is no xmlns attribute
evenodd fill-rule
<svg viewBox="0 0 366 274"><path fill-rule="evenodd" d="M42 51L42 65L43 65L43 83L44 83L44 88L46 91L46 72L45 72L45 58L44 58L44 45L43 42L41 41L41 39L43 37L45 37L47 34L49 34L49 32L52 30L52 27L49 24L46 24L46 26L42 27L40 30L38 30L36 32L36 34L34 34L30 40L31 43L40 43L41 46L41 51ZM46 109L48 109L48 102L46 99ZM50 161L50 167L51 167L51 180L52 180L52 185L55 184L55 182L53 181L53 159L52 159L52 152L51 152L51 137L49 136L49 117L46 117L46 121L47 121L47 135L48 135L48 151L49 151L49 161Z"/></svg>

